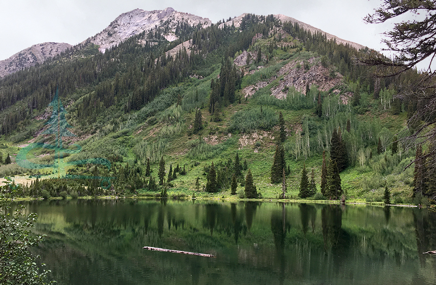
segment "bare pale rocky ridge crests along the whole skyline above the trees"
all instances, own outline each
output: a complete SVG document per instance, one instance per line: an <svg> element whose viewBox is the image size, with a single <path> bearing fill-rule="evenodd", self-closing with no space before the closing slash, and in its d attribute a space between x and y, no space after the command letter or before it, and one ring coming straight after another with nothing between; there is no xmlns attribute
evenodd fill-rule
<svg viewBox="0 0 436 285"><path fill-rule="evenodd" d="M231 26L232 24L235 27L239 27L242 18L246 15L248 14L244 13L231 19L230 21L220 23L219 27L222 28L224 25ZM297 23L302 28L311 31L312 33L321 32L326 35L327 39L334 39L338 43L348 44L358 50L364 48L364 46L358 43L341 39L335 35L322 31L321 29L312 27L311 25L298 21L292 17L281 14L273 16L276 19L279 19L281 22L290 21L292 23ZM177 12L171 7L165 8L163 10L153 11L134 9L116 17L102 32L99 32L92 37L89 37L87 40L84 40L82 44L87 41L91 42L95 45L98 45L99 51L104 53L107 48L114 47L115 45L120 44L122 41L130 38L131 36L138 35L141 32L154 32L157 28L162 28L162 25L165 23L167 23L167 25L166 27L164 27L163 36L166 40L170 42L178 38L175 34L178 23L201 25L202 28L208 27L212 24L209 18L202 18L201 16L195 16L189 13ZM55 49L55 52L43 52L43 49L41 47L47 45L53 46L50 47L50 49ZM43 63L45 60L47 60L47 58L54 57L59 53L63 52L66 48L70 47L73 46L66 43L50 42L33 45L24 50L21 50L10 58L0 61L0 78L15 73L16 71L19 71L21 69L31 67L36 63Z"/></svg>

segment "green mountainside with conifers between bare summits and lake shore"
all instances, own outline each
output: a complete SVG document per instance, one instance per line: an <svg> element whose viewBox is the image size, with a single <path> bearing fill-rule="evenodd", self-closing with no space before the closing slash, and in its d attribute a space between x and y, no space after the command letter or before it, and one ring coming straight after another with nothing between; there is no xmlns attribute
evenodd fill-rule
<svg viewBox="0 0 436 285"><path fill-rule="evenodd" d="M0 79L0 175L45 198L434 202L435 146L406 140L427 102L399 96L420 72L377 77L359 63L373 50L272 15L220 24L87 41Z"/></svg>

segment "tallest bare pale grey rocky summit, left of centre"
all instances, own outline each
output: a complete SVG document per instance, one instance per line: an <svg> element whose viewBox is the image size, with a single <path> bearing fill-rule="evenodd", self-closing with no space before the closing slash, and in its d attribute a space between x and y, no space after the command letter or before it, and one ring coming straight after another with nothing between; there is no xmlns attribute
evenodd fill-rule
<svg viewBox="0 0 436 285"><path fill-rule="evenodd" d="M164 37L168 41L174 41L177 39L174 32L178 22L187 23L190 26L200 24L202 27L212 24L208 18L177 12L172 8L155 11L135 9L118 16L106 29L90 38L90 42L100 46L99 50L105 52L107 48L118 45L131 36L141 32L155 31L164 23L168 24Z"/></svg>

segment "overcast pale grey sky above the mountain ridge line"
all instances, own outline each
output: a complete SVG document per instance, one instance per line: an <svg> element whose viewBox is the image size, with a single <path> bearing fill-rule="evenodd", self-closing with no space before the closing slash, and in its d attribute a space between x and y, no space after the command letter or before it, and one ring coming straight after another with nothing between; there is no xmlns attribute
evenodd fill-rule
<svg viewBox="0 0 436 285"><path fill-rule="evenodd" d="M44 42L76 45L122 13L172 7L213 23L243 13L283 14L344 40L381 50L389 25L366 24L381 0L0 0L0 60Z"/></svg>

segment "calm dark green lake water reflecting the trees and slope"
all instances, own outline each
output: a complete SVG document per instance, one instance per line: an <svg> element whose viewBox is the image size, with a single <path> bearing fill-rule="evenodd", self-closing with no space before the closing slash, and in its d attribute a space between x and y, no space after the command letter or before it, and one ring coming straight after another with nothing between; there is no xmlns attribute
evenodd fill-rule
<svg viewBox="0 0 436 285"><path fill-rule="evenodd" d="M436 284L436 214L297 203L25 202L58 284ZM153 246L216 258L143 250Z"/></svg>

